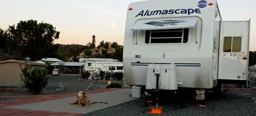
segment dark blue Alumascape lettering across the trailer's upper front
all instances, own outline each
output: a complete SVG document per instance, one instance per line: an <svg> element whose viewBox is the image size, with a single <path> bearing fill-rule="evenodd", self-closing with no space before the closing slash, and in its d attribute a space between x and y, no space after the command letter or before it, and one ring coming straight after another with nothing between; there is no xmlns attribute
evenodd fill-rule
<svg viewBox="0 0 256 116"><path fill-rule="evenodd" d="M151 15L167 15L167 14L180 14L180 13L185 13L185 14L192 14L192 13L201 13L201 10L199 8L195 9L171 9L171 10L154 10L154 11L149 11L142 10L140 13L138 13L138 16L151 16Z"/></svg>

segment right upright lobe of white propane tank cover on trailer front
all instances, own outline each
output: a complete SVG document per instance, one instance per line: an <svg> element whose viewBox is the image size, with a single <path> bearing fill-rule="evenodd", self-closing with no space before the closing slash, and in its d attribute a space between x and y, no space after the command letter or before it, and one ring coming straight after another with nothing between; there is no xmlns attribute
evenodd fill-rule
<svg viewBox="0 0 256 116"><path fill-rule="evenodd" d="M176 75L176 66L175 64L169 65L169 90L177 90L177 75Z"/></svg>

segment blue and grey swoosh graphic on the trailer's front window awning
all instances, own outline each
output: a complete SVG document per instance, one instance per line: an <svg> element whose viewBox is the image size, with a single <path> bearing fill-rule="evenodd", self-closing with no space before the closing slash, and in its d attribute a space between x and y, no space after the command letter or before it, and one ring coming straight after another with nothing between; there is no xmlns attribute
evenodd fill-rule
<svg viewBox="0 0 256 116"><path fill-rule="evenodd" d="M147 22L145 24L162 27L164 25L178 25L178 23L181 23L181 22L187 22L187 21L183 21L183 20L162 20L161 22L150 21L150 22Z"/></svg>

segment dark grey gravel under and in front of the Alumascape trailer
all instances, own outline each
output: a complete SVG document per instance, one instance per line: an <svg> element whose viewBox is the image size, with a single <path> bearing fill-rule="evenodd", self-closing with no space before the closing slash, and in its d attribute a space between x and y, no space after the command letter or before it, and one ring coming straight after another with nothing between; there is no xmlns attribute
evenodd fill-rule
<svg viewBox="0 0 256 116"><path fill-rule="evenodd" d="M251 96L256 96L256 93L242 93ZM211 93L209 93L212 96ZM236 96L230 92L225 92L221 94L221 98L210 97L206 100L206 107L196 106L197 101L192 99L181 100L180 102L172 101L169 103L164 103L162 115L178 115L178 116L218 116L218 115L235 115L235 116L256 116L256 103L250 98L244 98ZM184 108L176 109L180 106ZM119 104L105 109L100 109L93 111L84 116L147 116L149 111L149 106L145 106L144 99L136 99L127 103Z"/></svg>

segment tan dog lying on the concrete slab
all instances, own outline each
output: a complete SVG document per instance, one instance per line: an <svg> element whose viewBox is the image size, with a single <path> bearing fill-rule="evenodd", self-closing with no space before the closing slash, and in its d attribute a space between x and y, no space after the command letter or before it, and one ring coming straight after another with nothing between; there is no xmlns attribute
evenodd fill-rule
<svg viewBox="0 0 256 116"><path fill-rule="evenodd" d="M79 107L85 106L88 107L90 105L89 98L86 96L85 91L80 91L77 95L77 100L73 103L69 103L71 105L78 104Z"/></svg>

